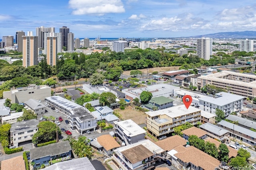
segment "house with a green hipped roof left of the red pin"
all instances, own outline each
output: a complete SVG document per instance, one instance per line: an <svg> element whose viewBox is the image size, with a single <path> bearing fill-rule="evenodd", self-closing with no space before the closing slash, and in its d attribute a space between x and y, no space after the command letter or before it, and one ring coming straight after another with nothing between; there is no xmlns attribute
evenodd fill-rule
<svg viewBox="0 0 256 170"><path fill-rule="evenodd" d="M144 105L144 107L146 107L151 111L166 109L173 106L173 101L174 100L166 98L164 96L159 96L159 97L152 98L148 102L148 104Z"/></svg>

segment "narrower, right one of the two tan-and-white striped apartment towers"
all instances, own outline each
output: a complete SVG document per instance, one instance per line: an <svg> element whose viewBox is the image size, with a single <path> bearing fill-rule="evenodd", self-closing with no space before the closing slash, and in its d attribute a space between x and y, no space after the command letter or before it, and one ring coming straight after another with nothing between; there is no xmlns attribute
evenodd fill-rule
<svg viewBox="0 0 256 170"><path fill-rule="evenodd" d="M54 33L49 33L49 36L46 36L46 59L47 64L50 66L56 65L56 59L57 59L57 37L54 36Z"/></svg>

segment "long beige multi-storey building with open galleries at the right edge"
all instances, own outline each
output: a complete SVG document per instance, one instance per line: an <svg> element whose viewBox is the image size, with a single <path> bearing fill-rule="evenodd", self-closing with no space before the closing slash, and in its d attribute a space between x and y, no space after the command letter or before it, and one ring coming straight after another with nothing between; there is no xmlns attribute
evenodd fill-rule
<svg viewBox="0 0 256 170"><path fill-rule="evenodd" d="M212 84L225 89L232 94L253 98L256 94L256 75L232 71L221 71L214 74L198 77L198 89L206 84Z"/></svg>

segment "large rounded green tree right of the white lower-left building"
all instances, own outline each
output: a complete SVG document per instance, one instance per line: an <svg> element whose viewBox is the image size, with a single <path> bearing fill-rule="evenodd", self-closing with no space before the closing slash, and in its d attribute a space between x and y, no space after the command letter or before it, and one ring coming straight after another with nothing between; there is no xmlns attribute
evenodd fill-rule
<svg viewBox="0 0 256 170"><path fill-rule="evenodd" d="M56 140L56 128L58 129L58 135L60 136L61 131L56 123L52 121L39 122L38 131L32 137L32 142L38 144Z"/></svg>

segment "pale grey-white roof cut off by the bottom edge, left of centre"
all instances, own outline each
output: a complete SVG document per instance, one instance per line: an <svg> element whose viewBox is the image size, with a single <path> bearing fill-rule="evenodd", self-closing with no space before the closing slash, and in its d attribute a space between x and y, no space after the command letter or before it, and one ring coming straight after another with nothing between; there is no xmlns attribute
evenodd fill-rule
<svg viewBox="0 0 256 170"><path fill-rule="evenodd" d="M51 166L46 166L44 170L96 170L87 157L62 161Z"/></svg>

